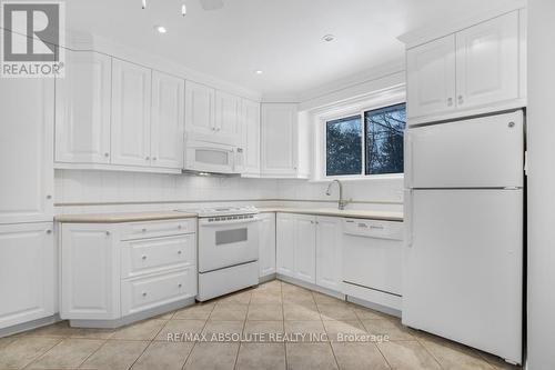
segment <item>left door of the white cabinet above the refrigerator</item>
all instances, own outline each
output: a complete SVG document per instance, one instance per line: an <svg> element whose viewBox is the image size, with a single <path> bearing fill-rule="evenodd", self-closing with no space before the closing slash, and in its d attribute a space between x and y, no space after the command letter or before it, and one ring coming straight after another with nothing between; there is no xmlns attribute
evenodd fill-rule
<svg viewBox="0 0 555 370"><path fill-rule="evenodd" d="M455 109L455 36L406 51L407 117Z"/></svg>

